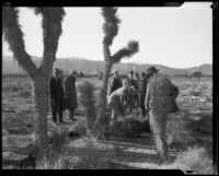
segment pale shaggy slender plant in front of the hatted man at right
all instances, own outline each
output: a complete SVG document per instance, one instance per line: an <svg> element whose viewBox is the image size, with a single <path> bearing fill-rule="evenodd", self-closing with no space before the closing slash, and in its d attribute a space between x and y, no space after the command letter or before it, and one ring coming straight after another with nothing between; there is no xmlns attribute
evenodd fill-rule
<svg viewBox="0 0 219 176"><path fill-rule="evenodd" d="M172 83L164 75L157 73L149 81L147 96L150 95L150 126L161 159L168 159L166 118L170 113L170 91Z"/></svg>

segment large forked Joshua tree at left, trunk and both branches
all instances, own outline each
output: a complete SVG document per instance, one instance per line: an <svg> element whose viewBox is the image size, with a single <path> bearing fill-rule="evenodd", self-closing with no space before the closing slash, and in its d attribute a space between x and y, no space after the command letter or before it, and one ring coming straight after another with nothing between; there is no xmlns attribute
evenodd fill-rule
<svg viewBox="0 0 219 176"><path fill-rule="evenodd" d="M34 102L36 108L36 142L42 149L47 149L47 84L48 75L56 60L58 39L61 35L61 22L65 15L62 8L32 8L36 15L42 15L44 54L37 68L25 50L23 32L19 25L19 9L2 8L2 31L14 59L31 77L34 84Z"/></svg>

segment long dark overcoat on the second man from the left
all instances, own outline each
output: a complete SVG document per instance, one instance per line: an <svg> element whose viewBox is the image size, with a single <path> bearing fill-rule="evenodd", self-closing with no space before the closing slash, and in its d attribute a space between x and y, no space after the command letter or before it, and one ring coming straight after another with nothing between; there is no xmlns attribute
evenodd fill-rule
<svg viewBox="0 0 219 176"><path fill-rule="evenodd" d="M78 107L76 79L72 75L67 75L64 79L64 92L67 98L65 98L65 105L68 109L74 109Z"/></svg>

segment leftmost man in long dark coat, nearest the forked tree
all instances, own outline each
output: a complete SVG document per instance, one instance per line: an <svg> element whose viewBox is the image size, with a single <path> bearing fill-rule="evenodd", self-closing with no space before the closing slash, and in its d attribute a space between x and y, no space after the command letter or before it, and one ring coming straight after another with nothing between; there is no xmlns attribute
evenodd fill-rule
<svg viewBox="0 0 219 176"><path fill-rule="evenodd" d="M54 124L62 122L64 87L60 80L60 69L55 68L49 80L49 99L51 108L51 120ZM58 119L57 119L58 114Z"/></svg>

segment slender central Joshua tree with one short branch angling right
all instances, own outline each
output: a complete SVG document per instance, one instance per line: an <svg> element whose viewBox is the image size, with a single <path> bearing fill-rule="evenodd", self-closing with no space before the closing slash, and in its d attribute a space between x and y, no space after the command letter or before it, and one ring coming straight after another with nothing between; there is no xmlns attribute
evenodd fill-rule
<svg viewBox="0 0 219 176"><path fill-rule="evenodd" d="M103 137L103 124L104 114L106 107L106 94L107 94L107 83L111 73L111 69L114 63L118 63L123 58L129 58L134 54L138 52L139 44L138 42L130 40L128 45L119 49L114 55L111 55L111 45L113 44L114 37L118 33L118 24L120 20L116 16L117 8L102 8L102 15L104 17L103 32L105 34L103 38L103 55L104 55L104 73L103 73L103 86L101 89L100 102L99 102L99 113L95 121L95 134L97 138Z"/></svg>

